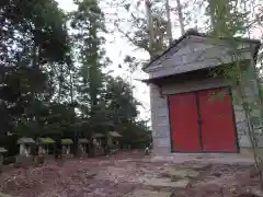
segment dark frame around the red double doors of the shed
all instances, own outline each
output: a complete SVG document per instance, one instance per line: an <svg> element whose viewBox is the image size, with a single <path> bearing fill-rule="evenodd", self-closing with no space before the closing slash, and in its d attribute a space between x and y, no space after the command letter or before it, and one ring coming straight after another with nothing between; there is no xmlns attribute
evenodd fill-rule
<svg viewBox="0 0 263 197"><path fill-rule="evenodd" d="M171 128L171 116L170 116L170 100L169 96L173 96L176 94L182 94L182 93L187 93L187 92L193 92L196 96L196 108L197 108L197 115L198 117L201 117L201 112L199 112L199 102L198 102L198 96L197 93L198 91L204 91L204 90L213 90L213 89L226 89L228 95L230 96L231 100L231 113L232 113L232 123L233 123L233 130L235 130L235 138L236 138L236 146L237 146L237 151L233 152L225 152L225 151L204 151L203 149L203 140L202 140L202 124L198 121L198 132L199 132L199 142L201 142L201 148L202 151L199 152L190 152L190 151L175 151L173 150L173 140L172 140L172 128ZM174 94L167 94L167 107L168 107L168 118L169 118L169 129L170 129L170 144L171 144L171 153L240 153L240 146L239 146L239 140L238 140L238 129L237 129L237 121L236 121L236 114L235 114L235 109L233 109L233 97L232 97L232 88L230 85L224 85L224 86L214 86L214 88L208 88L208 89L199 89L199 90L195 90L195 91L185 91L185 92L179 92L179 93L174 93Z"/></svg>

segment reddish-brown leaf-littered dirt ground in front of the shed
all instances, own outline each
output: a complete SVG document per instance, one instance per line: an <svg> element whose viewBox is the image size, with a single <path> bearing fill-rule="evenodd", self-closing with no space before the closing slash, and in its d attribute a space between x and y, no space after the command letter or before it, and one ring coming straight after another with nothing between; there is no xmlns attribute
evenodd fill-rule
<svg viewBox="0 0 263 197"><path fill-rule="evenodd" d="M0 192L18 197L263 196L252 169L251 160L232 155L122 152L2 172Z"/></svg>

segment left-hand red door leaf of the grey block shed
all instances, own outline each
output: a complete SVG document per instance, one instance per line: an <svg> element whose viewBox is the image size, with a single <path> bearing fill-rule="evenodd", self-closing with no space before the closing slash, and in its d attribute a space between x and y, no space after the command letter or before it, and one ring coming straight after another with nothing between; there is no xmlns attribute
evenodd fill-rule
<svg viewBox="0 0 263 197"><path fill-rule="evenodd" d="M196 93L169 96L172 149L178 152L201 152Z"/></svg>

